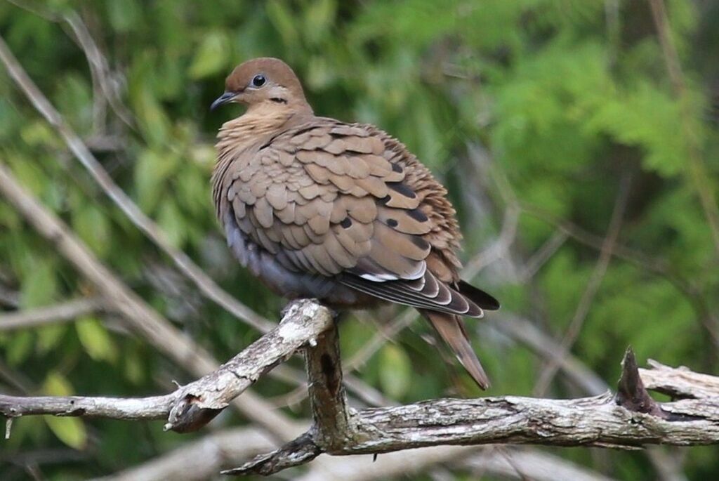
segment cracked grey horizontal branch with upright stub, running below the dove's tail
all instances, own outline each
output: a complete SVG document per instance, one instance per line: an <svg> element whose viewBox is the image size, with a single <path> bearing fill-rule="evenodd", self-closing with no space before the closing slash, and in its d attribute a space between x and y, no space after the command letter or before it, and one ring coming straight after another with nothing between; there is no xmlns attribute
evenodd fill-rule
<svg viewBox="0 0 719 481"><path fill-rule="evenodd" d="M339 408L342 413L315 416L314 426L298 439L225 474L269 475L308 462L323 452L377 454L442 444L638 449L650 444L719 443L719 395L657 403L646 393L629 349L616 395L605 393L573 400L516 396L439 399L364 411L347 408L341 392L334 394L327 388L341 380L342 374L331 359L333 349L323 350L320 362L308 360L311 376L326 379L324 384L311 383L311 400L334 403L323 404L322 408L330 412Z"/></svg>

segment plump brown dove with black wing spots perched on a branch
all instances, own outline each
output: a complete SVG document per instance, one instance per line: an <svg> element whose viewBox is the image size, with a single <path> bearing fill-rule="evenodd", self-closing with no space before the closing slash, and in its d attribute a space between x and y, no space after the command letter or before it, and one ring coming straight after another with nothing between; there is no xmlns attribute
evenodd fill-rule
<svg viewBox="0 0 719 481"><path fill-rule="evenodd" d="M444 186L383 130L316 116L282 60L234 68L211 109L229 103L247 109L219 130L211 183L234 257L288 299L417 308L487 389L462 318L499 303L459 278Z"/></svg>

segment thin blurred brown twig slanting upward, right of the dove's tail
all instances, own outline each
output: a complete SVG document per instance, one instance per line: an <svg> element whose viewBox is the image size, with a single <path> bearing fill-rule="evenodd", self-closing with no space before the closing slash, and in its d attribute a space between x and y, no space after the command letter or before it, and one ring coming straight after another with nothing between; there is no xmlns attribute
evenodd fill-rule
<svg viewBox="0 0 719 481"><path fill-rule="evenodd" d="M619 236L622 219L624 218L624 211L626 211L630 185L631 176L629 174L623 175L619 185L619 192L614 203L612 216L609 221L607 236L602 243L599 259L597 260L597 264L595 265L595 268L592 271L592 275L590 276L589 282L587 283L587 288L585 288L584 293L582 293L580 303L577 305L577 309L574 311L572 321L569 323L569 327L567 328L567 331L564 334L564 338L560 343L559 348L561 349L561 352L557 357L564 357L565 355L567 355L567 352L572 349L574 342L577 341L577 337L579 337L580 332L582 331L582 326L584 325L585 319L587 319L587 313L589 313L592 301L594 301L597 290L599 290L602 279L607 272L609 262L610 260L612 260L612 251L614 250L614 245L616 244L617 238ZM554 359L557 359L557 357L555 357ZM557 362L551 360L539 375L539 380L537 380L536 385L534 386L535 395L541 396L546 393L546 390L547 388L549 388L549 384L551 383L551 380L554 379L554 375L557 374L558 369L559 365L557 364Z"/></svg>

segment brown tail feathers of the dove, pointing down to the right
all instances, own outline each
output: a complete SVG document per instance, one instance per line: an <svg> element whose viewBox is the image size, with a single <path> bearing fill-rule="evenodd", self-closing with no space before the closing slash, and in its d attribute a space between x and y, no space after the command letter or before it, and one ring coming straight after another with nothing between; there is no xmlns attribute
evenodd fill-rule
<svg viewBox="0 0 719 481"><path fill-rule="evenodd" d="M489 377L482 368L480 359L477 359L477 354L472 350L462 318L457 314L427 311L425 309L421 309L420 312L444 339L444 342L449 344L459 362L470 373L477 385L482 389L489 388Z"/></svg>

